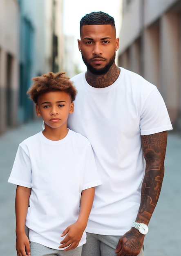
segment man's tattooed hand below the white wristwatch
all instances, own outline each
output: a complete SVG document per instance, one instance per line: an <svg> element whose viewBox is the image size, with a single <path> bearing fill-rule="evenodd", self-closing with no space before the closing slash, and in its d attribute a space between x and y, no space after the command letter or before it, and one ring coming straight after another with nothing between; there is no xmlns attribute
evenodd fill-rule
<svg viewBox="0 0 181 256"><path fill-rule="evenodd" d="M137 256L143 247L144 238L135 228L130 229L119 239L115 251L117 256Z"/></svg>

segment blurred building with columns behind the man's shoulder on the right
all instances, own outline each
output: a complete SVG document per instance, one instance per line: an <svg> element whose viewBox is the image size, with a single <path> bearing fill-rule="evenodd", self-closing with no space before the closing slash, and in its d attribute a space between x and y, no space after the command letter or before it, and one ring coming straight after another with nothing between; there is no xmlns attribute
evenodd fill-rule
<svg viewBox="0 0 181 256"><path fill-rule="evenodd" d="M123 0L118 63L155 84L181 128L181 1Z"/></svg>

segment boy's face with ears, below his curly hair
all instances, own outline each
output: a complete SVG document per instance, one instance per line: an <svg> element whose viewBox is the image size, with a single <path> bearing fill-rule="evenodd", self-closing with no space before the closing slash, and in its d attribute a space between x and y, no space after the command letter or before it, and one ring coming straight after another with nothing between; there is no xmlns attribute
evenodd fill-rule
<svg viewBox="0 0 181 256"><path fill-rule="evenodd" d="M69 114L74 112L74 103L66 92L46 92L38 97L36 114L42 117L46 126L67 129Z"/></svg>

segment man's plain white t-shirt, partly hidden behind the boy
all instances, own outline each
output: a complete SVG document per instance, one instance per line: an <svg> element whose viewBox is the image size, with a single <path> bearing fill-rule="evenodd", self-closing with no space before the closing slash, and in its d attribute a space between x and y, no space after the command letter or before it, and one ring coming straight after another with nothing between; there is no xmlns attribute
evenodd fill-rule
<svg viewBox="0 0 181 256"><path fill-rule="evenodd" d="M106 88L90 86L85 72L71 80L78 95L68 127L89 139L102 181L86 231L123 235L140 206L145 173L141 135L172 130L168 111L154 85L122 67Z"/></svg>

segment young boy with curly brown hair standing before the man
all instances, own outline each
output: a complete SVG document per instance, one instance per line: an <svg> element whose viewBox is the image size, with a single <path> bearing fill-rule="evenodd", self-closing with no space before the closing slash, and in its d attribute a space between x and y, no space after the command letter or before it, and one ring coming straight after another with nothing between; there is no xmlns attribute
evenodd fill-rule
<svg viewBox="0 0 181 256"><path fill-rule="evenodd" d="M31 256L80 256L94 186L101 184L89 141L67 128L77 92L64 74L35 77L27 91L45 129L19 145L8 180L17 185L18 256L30 249Z"/></svg>

